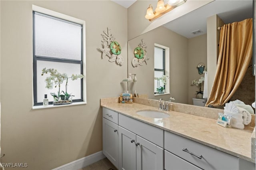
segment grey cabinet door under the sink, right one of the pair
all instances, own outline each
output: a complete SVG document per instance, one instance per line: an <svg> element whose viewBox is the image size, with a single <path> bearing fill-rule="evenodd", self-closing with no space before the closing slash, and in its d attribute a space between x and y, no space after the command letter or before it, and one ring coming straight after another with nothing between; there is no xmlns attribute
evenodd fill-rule
<svg viewBox="0 0 256 170"><path fill-rule="evenodd" d="M156 144L136 136L137 170L163 170L164 149Z"/></svg>

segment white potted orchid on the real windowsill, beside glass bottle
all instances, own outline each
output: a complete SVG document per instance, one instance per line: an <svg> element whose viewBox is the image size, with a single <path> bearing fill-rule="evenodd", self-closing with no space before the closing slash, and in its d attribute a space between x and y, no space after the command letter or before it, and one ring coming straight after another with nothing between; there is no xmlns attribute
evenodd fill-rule
<svg viewBox="0 0 256 170"><path fill-rule="evenodd" d="M56 93L50 93L53 97L54 97L54 101L59 101L61 100L69 100L71 96L71 93L69 94L67 92L67 88L68 88L68 79L71 78L71 80L77 80L82 79L84 77L84 75L82 74L72 74L71 77L68 77L66 73L59 73L56 69L42 69L42 75L50 73L50 76L46 77L46 79L44 80L44 82L46 83L45 88L47 89L52 89L53 86L56 88L58 86L58 94ZM60 91L60 84L63 83L63 81L66 80L66 88L65 88L65 92L64 91ZM63 93L63 94L62 94Z"/></svg>

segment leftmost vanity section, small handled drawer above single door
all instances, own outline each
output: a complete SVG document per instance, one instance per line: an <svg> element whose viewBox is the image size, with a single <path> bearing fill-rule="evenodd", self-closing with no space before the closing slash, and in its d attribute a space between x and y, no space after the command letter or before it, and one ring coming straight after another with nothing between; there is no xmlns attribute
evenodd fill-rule
<svg viewBox="0 0 256 170"><path fill-rule="evenodd" d="M102 130L103 154L118 167L118 113L103 108Z"/></svg>

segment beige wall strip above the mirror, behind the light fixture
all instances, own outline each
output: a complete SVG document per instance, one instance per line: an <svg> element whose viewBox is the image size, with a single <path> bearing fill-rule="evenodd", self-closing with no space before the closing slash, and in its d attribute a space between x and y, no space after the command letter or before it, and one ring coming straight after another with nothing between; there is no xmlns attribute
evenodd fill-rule
<svg viewBox="0 0 256 170"><path fill-rule="evenodd" d="M164 14L157 20L150 22L145 19L146 10L149 4L152 4L153 10L156 9L156 0L137 0L128 8L128 40L140 36L154 28L162 26L180 16L187 14L201 6L204 6L213 0L188 0L178 8ZM165 4L167 2L165 1Z"/></svg>

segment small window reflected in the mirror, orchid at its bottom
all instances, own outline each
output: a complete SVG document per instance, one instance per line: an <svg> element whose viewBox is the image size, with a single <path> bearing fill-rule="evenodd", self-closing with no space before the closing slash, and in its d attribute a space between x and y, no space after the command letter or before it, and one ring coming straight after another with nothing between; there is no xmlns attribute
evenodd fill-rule
<svg viewBox="0 0 256 170"><path fill-rule="evenodd" d="M169 48L155 43L154 47L154 77L162 77L162 75L169 76ZM169 79L168 79L169 80ZM154 94L157 93L157 88L162 86L165 93L169 93L169 81L164 85L162 81L154 81ZM160 83L160 84L158 84Z"/></svg>

